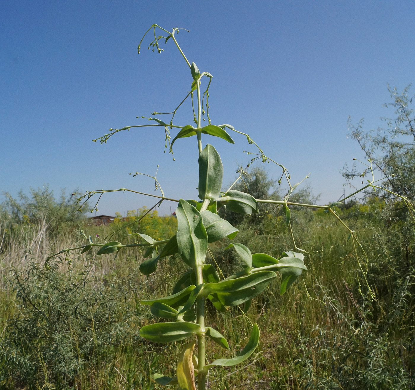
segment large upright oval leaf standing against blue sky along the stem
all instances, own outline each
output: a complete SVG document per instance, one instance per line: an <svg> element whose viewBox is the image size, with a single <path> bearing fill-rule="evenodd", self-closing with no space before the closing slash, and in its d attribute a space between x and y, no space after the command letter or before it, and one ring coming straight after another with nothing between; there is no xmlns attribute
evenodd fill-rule
<svg viewBox="0 0 415 390"><path fill-rule="evenodd" d="M207 144L199 154L199 198L215 200L222 188L223 165L216 149Z"/></svg>

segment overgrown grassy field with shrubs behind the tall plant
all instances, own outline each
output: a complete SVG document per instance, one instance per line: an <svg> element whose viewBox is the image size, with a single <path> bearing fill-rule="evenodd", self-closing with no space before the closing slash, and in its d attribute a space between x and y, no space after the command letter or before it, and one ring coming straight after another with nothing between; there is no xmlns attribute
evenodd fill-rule
<svg viewBox="0 0 415 390"><path fill-rule="evenodd" d="M211 370L208 388L414 388L414 229L405 211L386 209L375 199L338 210L368 254L366 261L358 252L374 300L345 229L323 212L292 210L297 245L309 252L308 272L282 296L279 280L274 282L247 314L238 307L226 313L207 308L207 321L231 350L246 344L251 322L261 329L254 355L242 366ZM84 245L80 228L103 242L136 218L131 212L129 221L103 227L80 219L52 230L46 219L12 223L2 217L1 388L153 389L161 388L150 379L153 373L173 374L182 342L152 344L138 331L156 320L139 301L170 294L184 271L175 256L148 278L138 271L143 257L137 249L123 249L115 259L78 251L44 266L47 255ZM291 246L281 218L273 212L254 222L243 220L237 242L252 253L278 256ZM126 234L136 231L137 223L112 239L126 243L133 240ZM140 232L155 239L175 231L174 218L155 212L140 224ZM210 244L213 258L207 260L225 276L239 266L226 246ZM232 356L213 343L207 351L208 361Z"/></svg>

